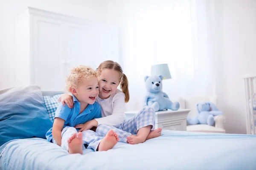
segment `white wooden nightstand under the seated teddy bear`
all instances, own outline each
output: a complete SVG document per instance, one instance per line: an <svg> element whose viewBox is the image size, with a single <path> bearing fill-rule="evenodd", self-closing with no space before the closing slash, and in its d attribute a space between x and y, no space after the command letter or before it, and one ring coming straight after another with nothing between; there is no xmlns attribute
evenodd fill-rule
<svg viewBox="0 0 256 170"><path fill-rule="evenodd" d="M186 131L186 118L190 109L180 109L178 111L157 111L156 112L156 128L161 127L167 130L182 130ZM139 111L125 112L126 119L130 119Z"/></svg>

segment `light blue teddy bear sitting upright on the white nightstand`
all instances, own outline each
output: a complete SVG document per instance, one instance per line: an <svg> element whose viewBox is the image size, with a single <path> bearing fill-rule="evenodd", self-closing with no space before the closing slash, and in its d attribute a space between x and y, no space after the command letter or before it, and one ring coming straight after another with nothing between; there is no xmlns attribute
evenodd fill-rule
<svg viewBox="0 0 256 170"><path fill-rule="evenodd" d="M162 91L163 76L145 76L145 87L147 95L145 96L143 107L150 106L154 111L162 111L164 109L171 109L177 111L180 108L178 102L172 102L168 95Z"/></svg>

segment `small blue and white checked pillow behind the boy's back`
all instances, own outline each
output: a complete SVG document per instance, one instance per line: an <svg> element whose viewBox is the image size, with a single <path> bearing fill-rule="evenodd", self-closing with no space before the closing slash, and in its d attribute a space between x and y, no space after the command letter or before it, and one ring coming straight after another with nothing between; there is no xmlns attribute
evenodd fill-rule
<svg viewBox="0 0 256 170"><path fill-rule="evenodd" d="M43 96L44 97L44 105L47 108L47 112L51 121L54 121L55 111L58 108L60 102L57 102L57 99L61 96L61 94L56 94L54 96Z"/></svg>

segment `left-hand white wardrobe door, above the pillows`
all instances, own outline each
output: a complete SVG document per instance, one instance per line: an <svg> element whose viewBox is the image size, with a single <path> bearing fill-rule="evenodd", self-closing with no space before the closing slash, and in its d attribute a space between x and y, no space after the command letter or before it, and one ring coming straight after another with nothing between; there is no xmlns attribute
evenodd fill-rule
<svg viewBox="0 0 256 170"><path fill-rule="evenodd" d="M64 22L52 17L32 17L33 82L42 90L64 90Z"/></svg>

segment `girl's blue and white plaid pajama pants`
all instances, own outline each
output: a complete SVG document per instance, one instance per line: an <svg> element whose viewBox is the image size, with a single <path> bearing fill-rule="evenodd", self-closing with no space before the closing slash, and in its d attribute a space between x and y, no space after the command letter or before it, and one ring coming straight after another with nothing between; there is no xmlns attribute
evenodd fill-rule
<svg viewBox="0 0 256 170"><path fill-rule="evenodd" d="M119 142L127 142L127 137L136 135L138 130L142 127L152 125L151 130L155 128L155 111L145 106L139 113L134 115L131 119L125 120L122 124L117 126L99 125L96 133L99 136L105 136L109 130L113 130L119 136Z"/></svg>

